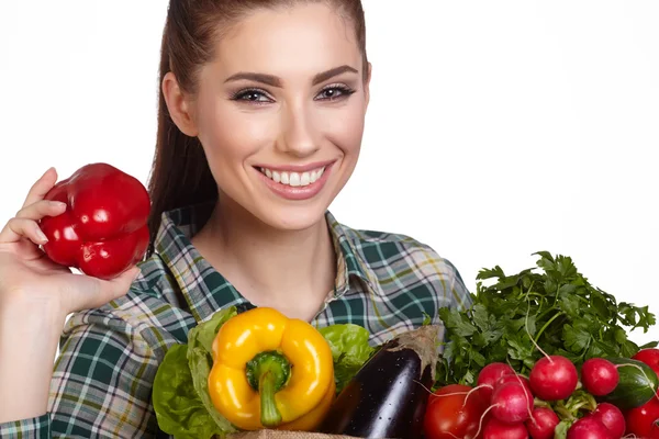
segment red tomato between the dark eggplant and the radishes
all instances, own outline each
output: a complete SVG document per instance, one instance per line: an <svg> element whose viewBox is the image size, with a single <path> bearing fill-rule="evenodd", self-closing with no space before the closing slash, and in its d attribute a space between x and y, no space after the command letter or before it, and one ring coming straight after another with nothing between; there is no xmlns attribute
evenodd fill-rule
<svg viewBox="0 0 659 439"><path fill-rule="evenodd" d="M424 417L426 439L474 439L487 404L478 392L470 394L465 404L467 392L472 389L468 385L450 384L429 396Z"/></svg>

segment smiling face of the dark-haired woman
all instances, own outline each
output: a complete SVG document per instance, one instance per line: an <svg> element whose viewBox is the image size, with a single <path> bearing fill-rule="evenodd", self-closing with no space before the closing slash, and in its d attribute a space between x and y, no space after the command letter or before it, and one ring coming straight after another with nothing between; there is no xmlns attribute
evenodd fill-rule
<svg viewBox="0 0 659 439"><path fill-rule="evenodd" d="M316 224L357 164L364 68L351 23L324 4L259 10L223 36L191 106L221 203Z"/></svg>

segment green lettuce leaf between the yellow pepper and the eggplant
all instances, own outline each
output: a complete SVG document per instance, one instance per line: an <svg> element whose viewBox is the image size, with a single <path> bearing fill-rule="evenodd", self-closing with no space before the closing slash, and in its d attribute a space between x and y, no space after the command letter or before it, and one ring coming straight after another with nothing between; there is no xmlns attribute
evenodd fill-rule
<svg viewBox="0 0 659 439"><path fill-rule="evenodd" d="M376 349L368 344L368 330L359 325L331 325L319 331L332 349L334 381L339 393Z"/></svg>

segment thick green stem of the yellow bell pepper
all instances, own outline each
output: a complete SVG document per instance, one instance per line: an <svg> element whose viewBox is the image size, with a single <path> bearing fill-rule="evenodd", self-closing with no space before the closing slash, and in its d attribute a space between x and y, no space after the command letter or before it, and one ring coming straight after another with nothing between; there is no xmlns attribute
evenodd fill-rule
<svg viewBox="0 0 659 439"><path fill-rule="evenodd" d="M291 363L277 352L257 353L247 362L247 381L260 397L260 418L265 427L277 427L281 424L281 414L275 403L275 394L279 392L291 375Z"/></svg>

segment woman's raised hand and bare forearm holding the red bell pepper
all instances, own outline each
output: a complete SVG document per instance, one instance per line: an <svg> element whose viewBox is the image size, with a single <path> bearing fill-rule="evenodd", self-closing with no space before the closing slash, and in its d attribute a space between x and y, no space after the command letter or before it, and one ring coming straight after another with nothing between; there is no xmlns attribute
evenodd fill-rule
<svg viewBox="0 0 659 439"><path fill-rule="evenodd" d="M66 316L124 295L139 271L133 267L105 281L74 274L48 259L40 248L46 238L38 221L66 210L44 200L56 181L48 169L0 232L0 423L46 413Z"/></svg>

